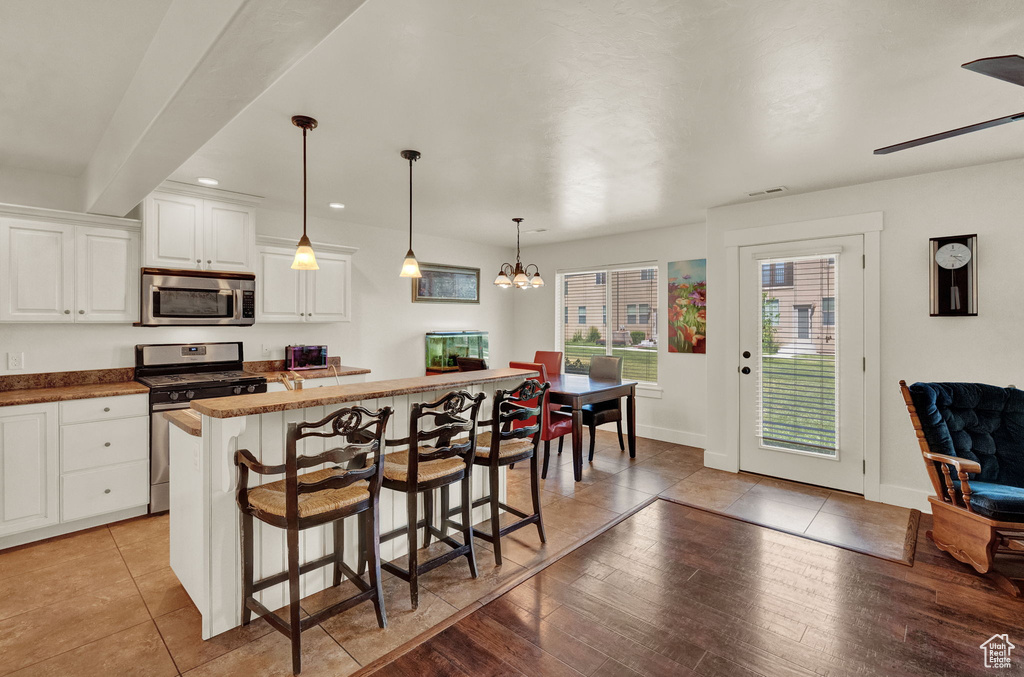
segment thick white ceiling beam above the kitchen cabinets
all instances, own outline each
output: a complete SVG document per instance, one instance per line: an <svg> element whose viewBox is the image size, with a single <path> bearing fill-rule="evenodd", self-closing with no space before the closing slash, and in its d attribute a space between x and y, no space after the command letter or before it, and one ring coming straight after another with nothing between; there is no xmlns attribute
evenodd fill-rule
<svg viewBox="0 0 1024 677"><path fill-rule="evenodd" d="M127 214L364 2L173 0L89 161L83 211Z"/></svg>

